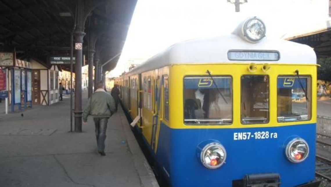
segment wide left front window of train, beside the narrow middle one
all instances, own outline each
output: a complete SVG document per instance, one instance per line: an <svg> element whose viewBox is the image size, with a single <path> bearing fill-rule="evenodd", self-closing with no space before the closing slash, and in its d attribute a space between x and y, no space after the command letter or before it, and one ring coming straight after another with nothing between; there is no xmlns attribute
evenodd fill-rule
<svg viewBox="0 0 331 187"><path fill-rule="evenodd" d="M184 123L231 124L232 78L230 76L185 77Z"/></svg>

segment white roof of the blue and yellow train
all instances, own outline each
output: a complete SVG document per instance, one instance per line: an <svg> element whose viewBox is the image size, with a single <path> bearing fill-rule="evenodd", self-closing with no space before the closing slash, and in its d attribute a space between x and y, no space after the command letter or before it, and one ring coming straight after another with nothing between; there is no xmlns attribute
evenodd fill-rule
<svg viewBox="0 0 331 187"><path fill-rule="evenodd" d="M278 51L280 56L277 61L229 60L229 50L273 50ZM250 43L235 34L231 34L174 44L128 72L128 75L174 64L247 64L251 62L257 64L316 64L316 54L311 47L295 42L265 37L258 43Z"/></svg>

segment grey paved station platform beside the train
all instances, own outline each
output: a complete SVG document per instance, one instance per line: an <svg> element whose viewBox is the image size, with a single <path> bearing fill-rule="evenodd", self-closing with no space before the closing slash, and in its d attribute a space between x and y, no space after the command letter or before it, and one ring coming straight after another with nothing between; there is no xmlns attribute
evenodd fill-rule
<svg viewBox="0 0 331 187"><path fill-rule="evenodd" d="M51 106L0 111L0 186L159 186L121 108L108 120L106 156L97 153L91 117L82 128L69 132L68 97Z"/></svg>

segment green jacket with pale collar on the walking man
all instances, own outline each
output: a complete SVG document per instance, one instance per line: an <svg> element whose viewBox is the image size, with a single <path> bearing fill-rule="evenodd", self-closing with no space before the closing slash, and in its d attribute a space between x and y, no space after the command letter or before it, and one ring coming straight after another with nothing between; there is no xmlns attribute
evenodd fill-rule
<svg viewBox="0 0 331 187"><path fill-rule="evenodd" d="M87 116L110 117L116 110L114 98L105 90L97 89L88 99L87 106L83 111L83 121L87 121Z"/></svg>

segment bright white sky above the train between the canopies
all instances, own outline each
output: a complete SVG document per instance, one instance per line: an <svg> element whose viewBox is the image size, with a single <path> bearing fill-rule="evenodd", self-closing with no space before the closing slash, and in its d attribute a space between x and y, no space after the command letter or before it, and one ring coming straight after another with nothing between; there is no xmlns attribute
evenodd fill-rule
<svg viewBox="0 0 331 187"><path fill-rule="evenodd" d="M305 32L330 19L328 6L329 0L248 0L236 13L227 0L138 0L117 67L108 76L174 43L229 34L250 16L264 21L268 37Z"/></svg>

